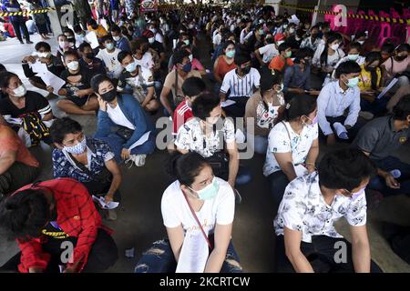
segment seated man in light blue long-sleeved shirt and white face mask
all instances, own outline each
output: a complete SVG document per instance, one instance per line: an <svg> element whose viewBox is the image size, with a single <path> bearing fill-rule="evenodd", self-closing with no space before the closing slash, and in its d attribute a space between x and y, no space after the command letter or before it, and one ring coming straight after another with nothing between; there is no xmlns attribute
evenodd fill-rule
<svg viewBox="0 0 410 291"><path fill-rule="evenodd" d="M363 123L360 112L359 75L362 69L354 61L347 61L336 69L336 81L325 85L317 99L320 134L327 145L339 141L352 141ZM347 116L344 115L349 109Z"/></svg>

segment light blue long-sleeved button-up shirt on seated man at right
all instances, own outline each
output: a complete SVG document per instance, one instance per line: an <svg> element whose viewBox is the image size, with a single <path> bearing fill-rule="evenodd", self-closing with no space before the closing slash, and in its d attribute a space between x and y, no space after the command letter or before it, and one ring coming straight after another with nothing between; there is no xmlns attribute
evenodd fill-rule
<svg viewBox="0 0 410 291"><path fill-rule="evenodd" d="M319 126L324 135L333 134L332 127L327 121L326 116L342 116L346 108L349 108L349 115L347 115L344 125L354 126L360 112L359 87L355 86L354 88L348 88L344 91L339 85L339 80L325 85L317 98Z"/></svg>

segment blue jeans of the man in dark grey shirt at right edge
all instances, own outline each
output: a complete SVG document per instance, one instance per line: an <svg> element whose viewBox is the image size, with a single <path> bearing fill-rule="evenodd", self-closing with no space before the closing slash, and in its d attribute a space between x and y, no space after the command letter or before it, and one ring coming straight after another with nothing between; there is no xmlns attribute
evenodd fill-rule
<svg viewBox="0 0 410 291"><path fill-rule="evenodd" d="M374 176L370 180L369 189L379 191L384 196L392 196L399 194L406 194L410 196L410 165L401 162L397 157L387 156L381 160L373 160L374 164L380 169L390 172L394 169L400 170L402 175L397 178L397 182L400 183L400 189L392 189L385 184L384 178L381 176Z"/></svg>

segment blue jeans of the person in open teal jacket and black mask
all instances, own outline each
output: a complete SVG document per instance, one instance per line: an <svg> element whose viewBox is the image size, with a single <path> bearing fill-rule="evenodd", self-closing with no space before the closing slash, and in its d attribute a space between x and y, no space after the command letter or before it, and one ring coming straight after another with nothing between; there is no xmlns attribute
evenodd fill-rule
<svg viewBox="0 0 410 291"><path fill-rule="evenodd" d="M108 143L108 145L111 147L111 150L114 152L114 155L116 156L118 164L123 162L121 159L121 151L124 148L124 144L127 142L126 140L124 140L116 133L111 133L106 137L100 137L98 139L101 139ZM149 139L144 144L142 144L141 146L136 146L131 150L131 155L152 154L155 150L155 140L156 135L154 132L151 132L149 134Z"/></svg>

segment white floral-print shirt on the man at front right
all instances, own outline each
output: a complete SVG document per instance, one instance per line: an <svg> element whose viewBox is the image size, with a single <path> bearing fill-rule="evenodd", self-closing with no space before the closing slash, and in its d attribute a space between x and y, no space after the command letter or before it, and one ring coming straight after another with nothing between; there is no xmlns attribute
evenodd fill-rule
<svg viewBox="0 0 410 291"><path fill-rule="evenodd" d="M365 194L356 198L334 197L332 205L324 201L317 172L294 179L287 187L274 220L275 233L283 236L283 227L302 232L302 241L312 243L312 236L343 237L334 222L344 217L350 226L366 224Z"/></svg>

